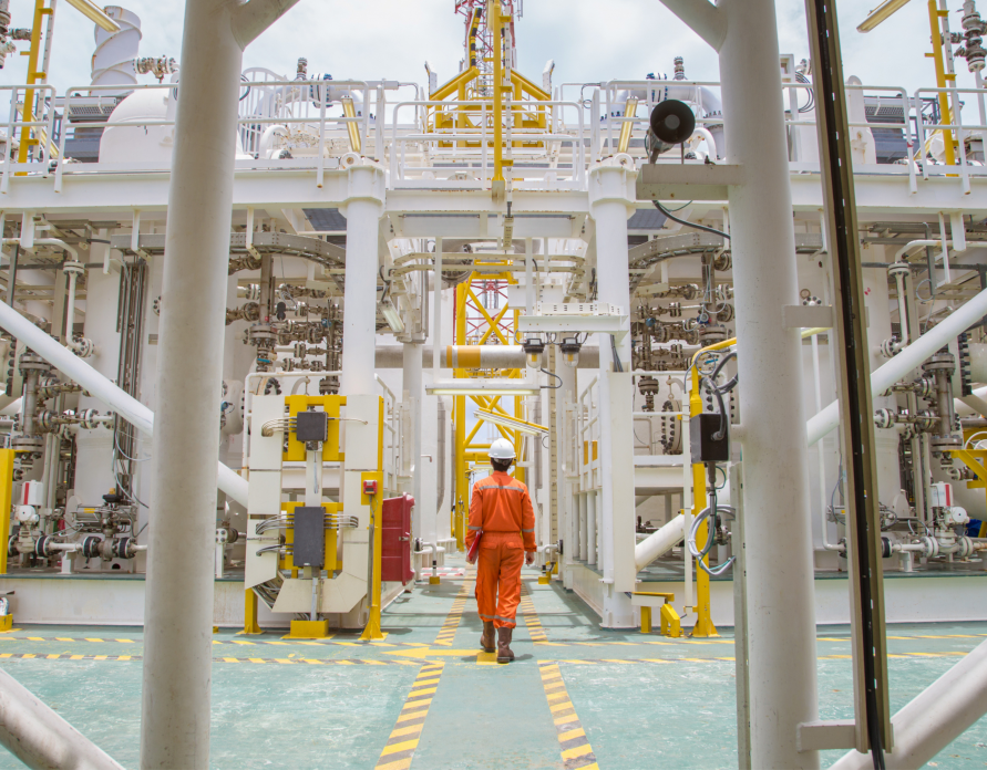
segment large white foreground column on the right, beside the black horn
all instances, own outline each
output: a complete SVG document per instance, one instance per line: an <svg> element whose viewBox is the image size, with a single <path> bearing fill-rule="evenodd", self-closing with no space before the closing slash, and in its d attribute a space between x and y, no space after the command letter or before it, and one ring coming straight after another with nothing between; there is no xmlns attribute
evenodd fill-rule
<svg viewBox="0 0 987 770"><path fill-rule="evenodd" d="M729 202L738 372L747 383L740 414L751 764L814 769L819 753L795 745L798 726L819 711L802 343L799 330L781 322L782 306L800 300L775 8L774 0L720 0L716 11L727 22L727 163L746 169Z"/></svg>

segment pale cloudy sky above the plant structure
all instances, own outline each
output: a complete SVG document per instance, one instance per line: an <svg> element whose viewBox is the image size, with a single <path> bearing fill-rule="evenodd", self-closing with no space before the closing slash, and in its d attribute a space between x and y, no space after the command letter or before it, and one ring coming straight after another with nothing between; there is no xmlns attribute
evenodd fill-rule
<svg viewBox="0 0 987 770"><path fill-rule="evenodd" d="M844 73L865 85L899 85L909 92L933 86L928 15L913 0L875 31L856 25L880 0L841 0L839 17ZM948 0L950 25L959 29L960 2ZM11 0L13 27L29 27L33 0ZM182 0L128 0L141 17L142 56L179 58L184 17ZM987 13L987 7L983 9ZM548 59L555 60L555 84L642 79L671 74L672 59L685 58L692 80L719 80L717 58L699 38L658 0L525 0L517 22L518 69L541 83ZM778 33L782 53L795 60L809 55L802 0L778 0ZM462 17L454 0L300 0L244 58L245 66L264 66L294 77L299 56L310 74L336 80L359 79L425 83L424 61L440 82L453 76L463 55ZM20 43L20 49L25 44ZM50 82L61 93L90 81L93 24L61 0L54 34ZM8 56L0 84L23 83L27 58ZM958 84L973 86L966 63L957 60ZM150 75L142 80L153 81Z"/></svg>

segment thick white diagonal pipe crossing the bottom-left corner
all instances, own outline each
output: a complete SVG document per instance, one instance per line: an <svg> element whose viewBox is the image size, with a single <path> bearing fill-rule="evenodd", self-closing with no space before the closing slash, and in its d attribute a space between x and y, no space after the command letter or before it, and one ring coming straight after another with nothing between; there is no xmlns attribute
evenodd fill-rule
<svg viewBox="0 0 987 770"><path fill-rule="evenodd" d="M4 670L0 670L0 743L35 770L123 770Z"/></svg>

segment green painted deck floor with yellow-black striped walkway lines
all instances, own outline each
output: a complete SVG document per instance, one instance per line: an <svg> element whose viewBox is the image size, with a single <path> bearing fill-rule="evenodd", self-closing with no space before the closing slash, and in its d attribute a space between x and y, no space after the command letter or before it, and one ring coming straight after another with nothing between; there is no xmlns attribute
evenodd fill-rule
<svg viewBox="0 0 987 770"><path fill-rule="evenodd" d="M602 631L575 594L557 582L538 585L536 576L526 570L525 586L547 641L533 642L518 614L517 660L507 666L480 654L472 597L461 617L450 614L462 579L394 602L382 643L361 644L356 634L321 642L215 634L212 767L736 767L729 631L714 639ZM443 623L449 628L456 618L454 635L443 636L449 643L436 644ZM0 666L122 764L136 767L142 631L14 627L0 634ZM818 637L821 717L849 718L849 631L822 628ZM987 623L893 626L893 708L985 639ZM825 752L823 767L840 755ZM987 767L987 719L929 764ZM0 769L17 767L0 749Z"/></svg>

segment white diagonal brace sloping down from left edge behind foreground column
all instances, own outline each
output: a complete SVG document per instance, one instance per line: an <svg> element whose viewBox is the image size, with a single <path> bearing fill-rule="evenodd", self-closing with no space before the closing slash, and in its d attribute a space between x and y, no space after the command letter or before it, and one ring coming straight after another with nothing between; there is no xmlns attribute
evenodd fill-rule
<svg viewBox="0 0 987 770"><path fill-rule="evenodd" d="M6 302L0 302L0 326L23 342L28 347L79 383L93 397L109 406L137 430L151 436L154 433L154 413L110 379L96 372L82 358L38 326L23 318ZM219 462L217 486L241 506L247 504L247 480Z"/></svg>

